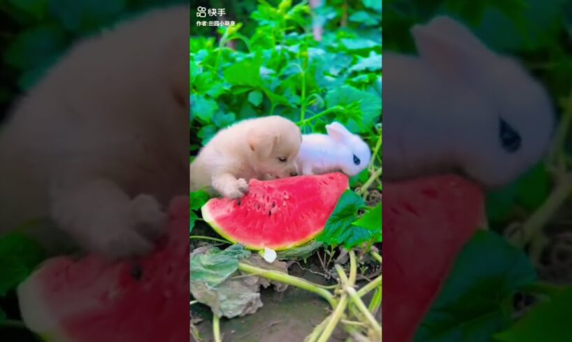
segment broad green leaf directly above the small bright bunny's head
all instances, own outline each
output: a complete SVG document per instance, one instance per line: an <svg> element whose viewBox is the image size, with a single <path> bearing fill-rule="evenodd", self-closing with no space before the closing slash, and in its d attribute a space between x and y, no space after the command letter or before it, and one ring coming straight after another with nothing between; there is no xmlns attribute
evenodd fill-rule
<svg viewBox="0 0 572 342"><path fill-rule="evenodd" d="M348 85L328 91L325 100L328 108L339 105L348 109L349 114L338 114L336 119L352 133L369 131L381 117L380 96Z"/></svg>

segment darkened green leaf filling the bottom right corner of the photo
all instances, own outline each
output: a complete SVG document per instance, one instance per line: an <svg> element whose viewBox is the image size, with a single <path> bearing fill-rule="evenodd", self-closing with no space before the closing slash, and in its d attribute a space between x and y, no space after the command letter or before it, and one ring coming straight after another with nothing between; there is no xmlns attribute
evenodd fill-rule
<svg viewBox="0 0 572 342"><path fill-rule="evenodd" d="M572 286L547 302L536 304L515 325L496 334L496 341L506 342L560 342L571 341Z"/></svg>

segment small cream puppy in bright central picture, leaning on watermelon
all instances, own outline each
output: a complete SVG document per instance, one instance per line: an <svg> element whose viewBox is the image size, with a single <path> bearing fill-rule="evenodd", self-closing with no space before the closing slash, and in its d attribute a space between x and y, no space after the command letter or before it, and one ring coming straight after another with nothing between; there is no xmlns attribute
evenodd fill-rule
<svg viewBox="0 0 572 342"><path fill-rule="evenodd" d="M190 166L191 191L214 190L240 198L250 179L296 175L294 159L302 135L296 124L278 116L248 119L218 132Z"/></svg>

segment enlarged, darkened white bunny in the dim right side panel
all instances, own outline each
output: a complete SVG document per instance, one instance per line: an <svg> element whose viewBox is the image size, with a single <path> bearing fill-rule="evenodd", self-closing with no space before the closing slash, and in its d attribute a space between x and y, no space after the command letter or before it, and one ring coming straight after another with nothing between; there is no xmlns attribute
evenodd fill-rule
<svg viewBox="0 0 572 342"><path fill-rule="evenodd" d="M536 163L555 113L520 64L436 17L411 30L418 57L385 53L385 180L460 171L501 186Z"/></svg>

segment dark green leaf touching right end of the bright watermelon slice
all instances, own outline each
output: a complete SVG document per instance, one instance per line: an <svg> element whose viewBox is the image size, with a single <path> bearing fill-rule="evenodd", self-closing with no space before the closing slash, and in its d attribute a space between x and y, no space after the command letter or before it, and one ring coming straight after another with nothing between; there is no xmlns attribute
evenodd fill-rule
<svg viewBox="0 0 572 342"><path fill-rule="evenodd" d="M343 245L345 248L352 248L376 238L376 230L352 225L357 210L362 209L364 205L365 202L359 195L346 190L328 219L324 231L316 237L316 240L329 246Z"/></svg>

